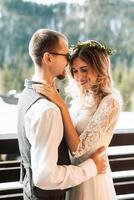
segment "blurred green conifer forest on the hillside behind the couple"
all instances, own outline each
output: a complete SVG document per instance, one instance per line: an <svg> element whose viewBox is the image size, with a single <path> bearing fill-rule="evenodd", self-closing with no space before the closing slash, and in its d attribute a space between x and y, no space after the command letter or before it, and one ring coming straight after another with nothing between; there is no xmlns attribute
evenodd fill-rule
<svg viewBox="0 0 134 200"><path fill-rule="evenodd" d="M98 40L114 49L111 71L114 85L123 96L123 110L134 111L134 1L85 0L83 4L52 5L0 0L0 94L20 92L33 64L28 43L39 28L64 33L70 46ZM65 97L63 84L59 83Z"/></svg>

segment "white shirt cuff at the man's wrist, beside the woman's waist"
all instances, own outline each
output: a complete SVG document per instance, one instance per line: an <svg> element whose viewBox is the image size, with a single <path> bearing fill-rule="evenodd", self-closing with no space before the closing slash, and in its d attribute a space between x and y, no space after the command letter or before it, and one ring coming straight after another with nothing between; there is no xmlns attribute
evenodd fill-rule
<svg viewBox="0 0 134 200"><path fill-rule="evenodd" d="M88 179L97 175L97 167L93 159L88 159L79 164L79 166L85 171Z"/></svg>

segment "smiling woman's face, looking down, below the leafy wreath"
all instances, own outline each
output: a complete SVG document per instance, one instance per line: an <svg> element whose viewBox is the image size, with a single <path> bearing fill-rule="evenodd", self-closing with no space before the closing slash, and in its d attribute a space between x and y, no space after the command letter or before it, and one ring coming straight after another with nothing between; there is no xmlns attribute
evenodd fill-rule
<svg viewBox="0 0 134 200"><path fill-rule="evenodd" d="M81 58L75 58L71 68L74 79L84 90L89 90L96 83L96 72L92 69L91 65L87 64Z"/></svg>

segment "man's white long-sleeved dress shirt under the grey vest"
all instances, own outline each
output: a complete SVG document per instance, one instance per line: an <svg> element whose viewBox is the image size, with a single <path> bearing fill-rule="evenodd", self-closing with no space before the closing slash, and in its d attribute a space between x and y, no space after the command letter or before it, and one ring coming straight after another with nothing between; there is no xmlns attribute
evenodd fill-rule
<svg viewBox="0 0 134 200"><path fill-rule="evenodd" d="M92 159L78 166L57 165L63 122L60 109L52 102L39 99L30 107L25 115L25 130L31 144L31 168L35 186L44 190L65 189L97 174Z"/></svg>

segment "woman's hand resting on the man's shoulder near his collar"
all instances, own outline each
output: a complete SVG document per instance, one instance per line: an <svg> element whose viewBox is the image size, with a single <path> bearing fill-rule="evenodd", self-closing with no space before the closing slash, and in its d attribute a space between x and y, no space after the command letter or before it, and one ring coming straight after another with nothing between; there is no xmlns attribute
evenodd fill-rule
<svg viewBox="0 0 134 200"><path fill-rule="evenodd" d="M36 92L46 96L50 101L52 101L58 107L62 108L65 105L63 99L60 97L60 95L54 85L52 86L48 83L34 84L33 89Z"/></svg>

